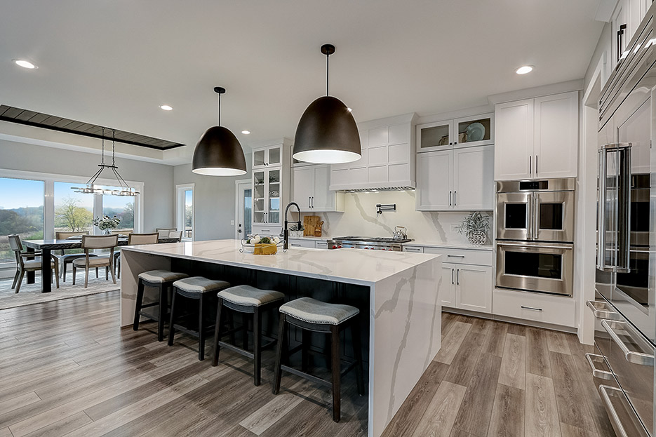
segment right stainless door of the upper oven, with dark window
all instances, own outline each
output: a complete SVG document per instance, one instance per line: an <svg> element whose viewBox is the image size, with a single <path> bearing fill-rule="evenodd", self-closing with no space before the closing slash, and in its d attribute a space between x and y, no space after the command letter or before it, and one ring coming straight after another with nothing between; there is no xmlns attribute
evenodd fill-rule
<svg viewBox="0 0 656 437"><path fill-rule="evenodd" d="M533 194L533 239L574 241L574 191Z"/></svg>

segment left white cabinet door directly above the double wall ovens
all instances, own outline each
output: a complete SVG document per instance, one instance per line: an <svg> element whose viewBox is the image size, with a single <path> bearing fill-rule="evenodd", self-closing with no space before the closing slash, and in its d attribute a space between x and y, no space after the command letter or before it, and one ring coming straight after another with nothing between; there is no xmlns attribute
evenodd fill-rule
<svg viewBox="0 0 656 437"><path fill-rule="evenodd" d="M495 180L533 176L533 99L495 106Z"/></svg>

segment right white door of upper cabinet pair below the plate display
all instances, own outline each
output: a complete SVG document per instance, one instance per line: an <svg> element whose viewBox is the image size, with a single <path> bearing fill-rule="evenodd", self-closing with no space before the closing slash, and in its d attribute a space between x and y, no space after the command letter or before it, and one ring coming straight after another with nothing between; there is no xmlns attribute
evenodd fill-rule
<svg viewBox="0 0 656 437"><path fill-rule="evenodd" d="M453 150L453 208L494 209L494 146Z"/></svg>

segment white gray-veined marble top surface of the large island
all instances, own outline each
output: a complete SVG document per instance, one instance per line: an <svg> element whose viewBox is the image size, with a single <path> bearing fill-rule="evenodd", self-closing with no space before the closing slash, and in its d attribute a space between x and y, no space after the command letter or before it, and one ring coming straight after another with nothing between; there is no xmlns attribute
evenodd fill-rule
<svg viewBox="0 0 656 437"><path fill-rule="evenodd" d="M253 255L240 253L239 248L238 240L213 240L130 246L123 250L368 286L439 257L346 248L290 248L286 253L279 250L276 255Z"/></svg>

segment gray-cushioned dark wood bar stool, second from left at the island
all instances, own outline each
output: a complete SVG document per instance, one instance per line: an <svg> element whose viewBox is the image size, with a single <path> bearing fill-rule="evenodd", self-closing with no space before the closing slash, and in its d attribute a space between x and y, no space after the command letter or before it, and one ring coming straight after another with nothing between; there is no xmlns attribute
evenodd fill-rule
<svg viewBox="0 0 656 437"><path fill-rule="evenodd" d="M203 276L192 276L191 278L180 279L173 283L173 297L170 304L170 323L168 325L168 345L173 346L173 336L175 330L181 330L189 335L198 337L198 359L205 359L205 331L208 326L205 325L206 319L206 296L210 292L228 288L230 283L226 281L212 281ZM175 324L175 318L178 316L178 309L175 308L176 296L187 297L188 299L198 300L198 330L194 331L182 325Z"/></svg>

